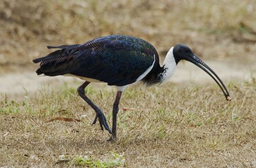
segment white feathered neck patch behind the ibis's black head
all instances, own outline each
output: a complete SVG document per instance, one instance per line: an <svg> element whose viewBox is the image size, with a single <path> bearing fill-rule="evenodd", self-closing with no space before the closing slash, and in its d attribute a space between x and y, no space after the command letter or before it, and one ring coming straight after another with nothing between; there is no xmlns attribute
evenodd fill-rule
<svg viewBox="0 0 256 168"><path fill-rule="evenodd" d="M176 62L173 57L173 47L169 50L167 53L165 59L164 59L164 64L163 64L164 71L163 73L159 74L161 75L161 81L166 81L168 78L170 78L176 68Z"/></svg>

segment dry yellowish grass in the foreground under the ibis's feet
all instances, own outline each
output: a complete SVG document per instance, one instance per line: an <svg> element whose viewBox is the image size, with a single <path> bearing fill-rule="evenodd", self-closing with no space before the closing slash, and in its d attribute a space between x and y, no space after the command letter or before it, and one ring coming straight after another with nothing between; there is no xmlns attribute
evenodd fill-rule
<svg viewBox="0 0 256 168"><path fill-rule="evenodd" d="M216 85L128 88L116 143L106 141L109 134L99 125L91 126L95 113L76 88L43 90L21 102L6 98L0 102L0 166L79 166L74 162L79 155L108 160L112 151L124 154L126 167L255 167L255 81L230 82L228 88L230 102ZM93 87L86 92L111 123L115 92ZM82 122L47 122L56 116Z"/></svg>

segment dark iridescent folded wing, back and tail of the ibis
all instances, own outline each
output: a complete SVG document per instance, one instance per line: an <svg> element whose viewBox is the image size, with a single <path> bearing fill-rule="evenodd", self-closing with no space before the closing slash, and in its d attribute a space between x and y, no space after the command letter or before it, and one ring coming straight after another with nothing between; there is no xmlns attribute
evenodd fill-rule
<svg viewBox="0 0 256 168"><path fill-rule="evenodd" d="M33 60L35 63L41 62L36 71L38 74L72 74L106 82L108 85L124 86L134 83L150 67L152 69L159 65L154 46L132 36L104 36L83 45L49 48L61 50Z"/></svg>

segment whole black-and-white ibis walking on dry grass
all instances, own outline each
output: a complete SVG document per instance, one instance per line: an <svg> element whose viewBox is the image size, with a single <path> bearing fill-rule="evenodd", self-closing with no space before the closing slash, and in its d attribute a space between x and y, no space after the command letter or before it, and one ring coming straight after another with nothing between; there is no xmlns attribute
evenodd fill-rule
<svg viewBox="0 0 256 168"><path fill-rule="evenodd" d="M81 45L47 46L47 48L57 50L33 60L34 63L40 62L36 73L45 76L75 76L84 80L84 83L77 88L77 92L95 111L92 125L99 120L100 128L108 130L111 134L109 141L116 140L118 104L125 88L137 82L152 86L167 81L173 75L180 60L192 62L204 70L216 81L227 101L231 100L227 88L218 75L196 56L191 48L182 43L170 48L163 66L160 66L156 48L144 39L134 36L114 34L95 38ZM95 82L108 83L117 88L112 111L112 129L109 129L103 111L84 93L84 88Z"/></svg>

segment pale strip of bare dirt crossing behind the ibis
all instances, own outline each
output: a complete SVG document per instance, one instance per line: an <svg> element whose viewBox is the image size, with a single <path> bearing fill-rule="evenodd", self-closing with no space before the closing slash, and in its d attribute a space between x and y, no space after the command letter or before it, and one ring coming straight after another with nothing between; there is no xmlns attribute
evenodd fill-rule
<svg viewBox="0 0 256 168"><path fill-rule="evenodd" d="M205 61L214 69L214 71L220 76L226 83L230 81L250 81L255 78L256 66L244 66L243 64L234 64L233 60L220 61L209 60ZM77 78L65 77L65 76L37 76L34 71L24 71L22 73L7 73L0 76L0 94L2 97L8 95L10 99L22 99L24 96L33 95L36 91L42 89L42 87L58 88L63 83L68 83L69 87L78 87L83 83L82 80ZM189 62L180 62L177 66L175 74L170 78L170 81L177 84L195 83L204 85L205 83L214 83L212 78L208 76L204 71L196 67ZM93 84L94 87L102 87L100 84ZM106 85L104 85L106 86ZM104 87L106 89L106 87ZM108 87L107 89L111 89Z"/></svg>

